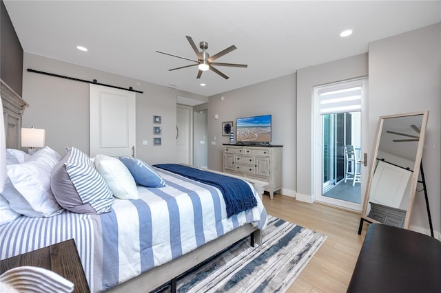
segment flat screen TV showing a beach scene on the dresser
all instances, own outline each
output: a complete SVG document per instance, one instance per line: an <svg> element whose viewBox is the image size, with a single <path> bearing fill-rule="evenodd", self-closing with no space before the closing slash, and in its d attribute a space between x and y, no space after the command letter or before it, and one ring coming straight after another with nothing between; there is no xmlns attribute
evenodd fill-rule
<svg viewBox="0 0 441 293"><path fill-rule="evenodd" d="M243 117L236 119L236 142L271 142L271 115Z"/></svg>

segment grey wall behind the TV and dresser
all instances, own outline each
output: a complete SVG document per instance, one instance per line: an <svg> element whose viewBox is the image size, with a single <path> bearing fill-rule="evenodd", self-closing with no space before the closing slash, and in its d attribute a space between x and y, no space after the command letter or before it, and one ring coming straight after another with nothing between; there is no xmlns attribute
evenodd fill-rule
<svg viewBox="0 0 441 293"><path fill-rule="evenodd" d="M223 96L223 100L220 97ZM218 114L218 119L214 115ZM272 142L283 145L283 194L296 190L296 74L243 87L208 99L208 168L223 170L222 122L257 115L272 115ZM216 140L214 140L216 137ZM216 144L212 144L215 142Z"/></svg>

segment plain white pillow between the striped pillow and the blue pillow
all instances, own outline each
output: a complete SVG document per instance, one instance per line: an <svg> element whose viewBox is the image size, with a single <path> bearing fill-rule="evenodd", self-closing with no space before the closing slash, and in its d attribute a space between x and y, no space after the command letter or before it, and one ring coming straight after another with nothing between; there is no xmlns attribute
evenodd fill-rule
<svg viewBox="0 0 441 293"><path fill-rule="evenodd" d="M108 155L96 155L94 164L96 171L104 178L114 197L139 199L136 182L123 162Z"/></svg>

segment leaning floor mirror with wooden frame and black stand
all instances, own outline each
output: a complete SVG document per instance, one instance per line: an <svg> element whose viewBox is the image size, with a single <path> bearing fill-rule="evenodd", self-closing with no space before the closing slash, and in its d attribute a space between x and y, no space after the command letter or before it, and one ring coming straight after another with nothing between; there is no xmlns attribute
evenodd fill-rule
<svg viewBox="0 0 441 293"><path fill-rule="evenodd" d="M421 111L380 117L359 235L363 221L409 228L418 182L425 188L418 178L428 116Z"/></svg>

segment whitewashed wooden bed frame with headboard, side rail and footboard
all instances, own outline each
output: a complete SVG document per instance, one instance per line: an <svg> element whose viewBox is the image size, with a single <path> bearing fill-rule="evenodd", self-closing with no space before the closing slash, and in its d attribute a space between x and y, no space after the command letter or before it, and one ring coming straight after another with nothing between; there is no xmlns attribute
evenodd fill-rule
<svg viewBox="0 0 441 293"><path fill-rule="evenodd" d="M25 107L28 107L29 105L13 89L4 83L3 80L0 79L0 81L1 100L3 102L3 116L5 119L6 147L8 149L20 149L21 116L23 115L23 110ZM265 188L265 186L268 184L268 182L254 180L251 178L225 174L223 172L198 168L195 166L192 167L246 180L254 186L258 195L260 196L260 199L263 195L263 188ZM228 248L240 239L248 236L250 237L251 246L254 246L254 243L262 243L262 232L257 228L254 228L251 224L246 224L217 239L205 243L203 246L196 248L195 250L178 257L177 259L164 263L156 268L152 268L151 270L110 290L107 290L106 292L139 292L140 288L143 288L144 292L149 292L169 281L171 281L172 292L176 292L176 279L179 275L191 268L194 268L194 266L205 261L206 259L209 259L209 257L214 256L214 254L225 250L225 248Z"/></svg>

